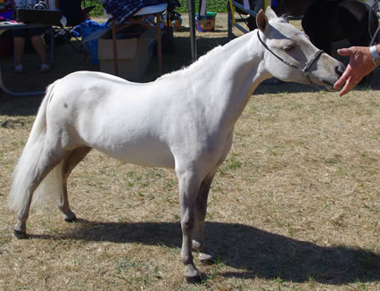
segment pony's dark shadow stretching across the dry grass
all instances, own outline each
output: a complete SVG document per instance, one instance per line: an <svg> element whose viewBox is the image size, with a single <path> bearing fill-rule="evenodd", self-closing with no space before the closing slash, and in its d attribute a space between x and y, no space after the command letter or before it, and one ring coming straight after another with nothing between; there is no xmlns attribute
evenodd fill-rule
<svg viewBox="0 0 380 291"><path fill-rule="evenodd" d="M219 261L237 271L224 277L282 279L340 285L380 280L380 257L374 252L345 246L320 246L255 229L243 224L206 222L209 248ZM78 220L78 228L60 237L112 243L141 243L179 248L178 222L113 223ZM179 259L179 258L178 258Z"/></svg>

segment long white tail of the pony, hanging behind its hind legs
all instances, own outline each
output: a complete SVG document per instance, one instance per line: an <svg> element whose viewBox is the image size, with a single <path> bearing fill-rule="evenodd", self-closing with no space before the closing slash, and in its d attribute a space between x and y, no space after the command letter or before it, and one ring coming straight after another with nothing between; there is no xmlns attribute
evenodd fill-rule
<svg viewBox="0 0 380 291"><path fill-rule="evenodd" d="M17 163L17 166L13 172L13 180L11 192L8 195L8 207L14 212L20 212L21 209L28 207L28 188L30 187L31 177L36 170L41 154L43 154L44 145L45 145L45 135L46 135L46 110L47 104L53 97L54 87L58 81L51 84L46 89L45 98L43 99L38 112L36 121L34 121L33 127L31 129L29 139L25 145L21 158ZM57 172L61 171L62 173L62 162L55 167L56 170L52 170L44 179L44 183L41 183L37 190L35 191L34 201L37 200L39 194L41 193L42 184L45 184L45 180L56 179L62 174L57 175ZM52 177L52 175L54 177ZM50 176L50 178L49 178ZM54 184L57 184L60 181L55 181ZM61 184L62 185L62 184ZM45 187L44 187L45 188ZM44 189L45 192L45 189ZM62 192L62 187L61 187ZM53 192L54 193L54 192ZM56 193L56 192L55 192Z"/></svg>

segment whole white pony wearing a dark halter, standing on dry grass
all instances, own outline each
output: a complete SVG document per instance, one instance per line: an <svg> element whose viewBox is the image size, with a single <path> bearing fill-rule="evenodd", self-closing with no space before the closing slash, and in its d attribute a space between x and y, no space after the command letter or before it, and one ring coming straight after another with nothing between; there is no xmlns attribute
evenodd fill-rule
<svg viewBox="0 0 380 291"><path fill-rule="evenodd" d="M203 240L207 196L232 144L235 122L254 89L272 76L332 89L344 66L319 51L270 7L259 29L219 46L188 68L148 84L78 71L47 88L14 173L9 207L18 213L16 237L26 237L34 192L58 195L73 221L67 179L93 148L120 161L176 171L181 260L190 281L200 279L192 247L212 263ZM43 193L46 189L48 193Z"/></svg>

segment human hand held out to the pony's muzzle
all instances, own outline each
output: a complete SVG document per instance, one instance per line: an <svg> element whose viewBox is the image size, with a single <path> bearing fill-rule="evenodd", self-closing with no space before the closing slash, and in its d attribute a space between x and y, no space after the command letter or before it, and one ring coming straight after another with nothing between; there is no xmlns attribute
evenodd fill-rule
<svg viewBox="0 0 380 291"><path fill-rule="evenodd" d="M339 96L343 96L358 85L359 81L375 70L371 53L367 46L351 46L350 48L338 49L338 54L350 56L350 63L340 79L335 82L335 89L342 87Z"/></svg>

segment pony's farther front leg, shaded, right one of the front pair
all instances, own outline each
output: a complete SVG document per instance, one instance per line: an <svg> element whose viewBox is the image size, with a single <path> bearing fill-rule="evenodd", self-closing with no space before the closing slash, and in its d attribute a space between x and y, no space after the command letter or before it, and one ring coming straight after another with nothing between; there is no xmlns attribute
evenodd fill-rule
<svg viewBox="0 0 380 291"><path fill-rule="evenodd" d="M199 259L204 264L214 263L214 255L207 250L203 235L204 220L207 212L207 198L214 176L215 172L206 179L203 179L196 197L193 248L199 253Z"/></svg>

